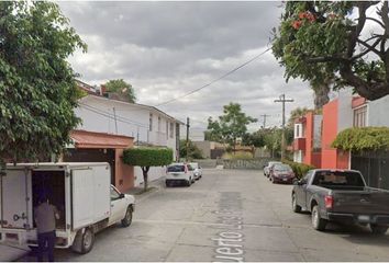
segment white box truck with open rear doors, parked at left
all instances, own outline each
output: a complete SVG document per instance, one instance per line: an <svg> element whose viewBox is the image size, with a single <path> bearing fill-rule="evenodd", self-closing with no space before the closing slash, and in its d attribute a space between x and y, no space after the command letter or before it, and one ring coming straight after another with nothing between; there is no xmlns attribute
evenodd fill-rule
<svg viewBox="0 0 389 263"><path fill-rule="evenodd" d="M33 213L40 192L45 191L60 216L56 248L88 253L96 232L132 221L134 197L121 194L110 181L105 162L9 164L0 176L1 242L37 245Z"/></svg>

